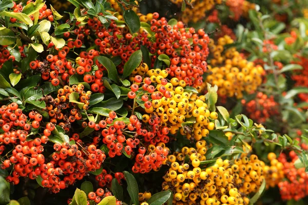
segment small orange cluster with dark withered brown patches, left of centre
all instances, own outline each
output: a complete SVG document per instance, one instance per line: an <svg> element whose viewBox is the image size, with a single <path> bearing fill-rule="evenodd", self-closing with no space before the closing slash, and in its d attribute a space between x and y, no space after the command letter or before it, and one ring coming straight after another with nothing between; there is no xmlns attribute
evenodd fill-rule
<svg viewBox="0 0 308 205"><path fill-rule="evenodd" d="M70 95L74 95L74 102L70 101ZM81 120L80 110L89 108L91 91L84 91L84 85L64 86L57 91L57 97L44 97L46 102L45 110L48 111L53 124L58 124L66 132L71 128L71 123L75 120ZM78 101L79 100L79 101Z"/></svg>

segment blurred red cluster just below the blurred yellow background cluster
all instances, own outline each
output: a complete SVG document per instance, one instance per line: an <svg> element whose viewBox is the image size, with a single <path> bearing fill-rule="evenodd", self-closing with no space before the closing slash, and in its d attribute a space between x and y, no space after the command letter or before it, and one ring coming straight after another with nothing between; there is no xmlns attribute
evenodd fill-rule
<svg viewBox="0 0 308 205"><path fill-rule="evenodd" d="M241 102L249 117L258 123L264 123L269 117L279 115L279 105L274 100L274 96L268 97L266 94L259 92L256 99L249 102L242 99Z"/></svg>

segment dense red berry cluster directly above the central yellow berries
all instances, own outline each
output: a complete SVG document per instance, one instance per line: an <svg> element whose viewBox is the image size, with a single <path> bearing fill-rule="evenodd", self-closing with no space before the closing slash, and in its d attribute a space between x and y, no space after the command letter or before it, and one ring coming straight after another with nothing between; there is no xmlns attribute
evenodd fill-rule
<svg viewBox="0 0 308 205"><path fill-rule="evenodd" d="M170 57L170 67L166 68L166 71L171 77L183 79L187 86L201 86L202 75L207 70L208 35L202 29L196 33L194 28L184 28L183 22L178 22L172 27L168 25L166 18L158 20L158 14L157 17L154 14L151 31L156 32L156 42L149 51L158 55L152 57L151 67L160 54L166 54Z"/></svg>

